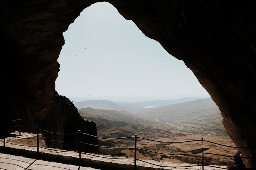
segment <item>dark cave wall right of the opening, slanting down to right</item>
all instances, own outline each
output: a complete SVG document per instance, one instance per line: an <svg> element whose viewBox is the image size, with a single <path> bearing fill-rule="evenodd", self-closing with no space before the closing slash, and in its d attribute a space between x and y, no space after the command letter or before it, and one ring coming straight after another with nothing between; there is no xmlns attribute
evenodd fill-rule
<svg viewBox="0 0 256 170"><path fill-rule="evenodd" d="M256 11L253 1L110 1L209 92L241 157L256 150ZM243 159L247 168L255 159Z"/></svg>

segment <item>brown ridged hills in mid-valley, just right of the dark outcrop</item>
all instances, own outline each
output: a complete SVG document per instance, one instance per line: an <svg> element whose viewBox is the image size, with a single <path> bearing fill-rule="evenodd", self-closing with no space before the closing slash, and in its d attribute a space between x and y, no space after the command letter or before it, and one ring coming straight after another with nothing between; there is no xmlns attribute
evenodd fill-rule
<svg viewBox="0 0 256 170"><path fill-rule="evenodd" d="M97 125L97 133L104 137L125 137L138 134L141 137L170 137L181 136L180 132L167 130L153 119L131 115L126 111L93 109L90 107L79 109L80 115Z"/></svg>

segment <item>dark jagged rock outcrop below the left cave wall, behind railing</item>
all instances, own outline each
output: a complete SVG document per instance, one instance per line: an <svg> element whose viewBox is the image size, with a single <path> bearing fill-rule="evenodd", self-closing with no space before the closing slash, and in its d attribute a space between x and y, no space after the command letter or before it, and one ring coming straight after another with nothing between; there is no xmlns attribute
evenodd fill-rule
<svg viewBox="0 0 256 170"><path fill-rule="evenodd" d="M58 95L55 92L55 96L53 98L54 106L51 109L51 112L45 117L42 122L42 129L50 129L54 133L42 131L45 139L46 145L49 148L59 148L65 150L73 150L78 151L79 146L77 143L79 141L79 134L73 134L73 132L78 132L81 130L82 133L90 134L97 136L96 124L94 122L89 122L87 120L82 119L80 114L77 112L77 108L73 105L73 103L66 98L65 96ZM62 135L66 133L65 135ZM49 141L66 141L63 142L55 142ZM71 143L67 143L71 142ZM89 143L93 145L98 144L98 140L96 137L91 137L88 135L81 134L81 142ZM81 145L82 152L86 153L98 153L98 147Z"/></svg>

